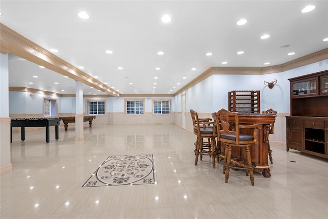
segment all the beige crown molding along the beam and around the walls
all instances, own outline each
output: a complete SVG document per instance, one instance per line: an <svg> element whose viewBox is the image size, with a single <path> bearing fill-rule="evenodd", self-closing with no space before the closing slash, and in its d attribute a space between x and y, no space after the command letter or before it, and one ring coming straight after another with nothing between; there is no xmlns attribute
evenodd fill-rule
<svg viewBox="0 0 328 219"><path fill-rule="evenodd" d="M30 62L38 65L45 66L46 68L53 70L59 74L68 76L75 81L82 82L86 85L101 90L106 95L86 95L86 96L100 96L100 97L113 97L113 96L176 96L187 89L193 87L203 79L208 78L213 74L250 74L250 75L261 75L284 72L291 69L295 69L301 66L309 65L311 63L319 62L328 58L328 48L311 53L309 55L302 56L293 61L283 63L281 65L268 66L268 67L211 67L200 74L198 77L193 79L186 86L174 94L120 94L116 90L108 87L101 83L89 74L81 71L75 66L67 63L63 59L49 52L48 50L40 47L33 43L29 39L0 23L0 53L7 54L12 53L19 57L25 58ZM16 88L9 88L16 89ZM26 91L27 88L22 88ZM36 89L35 89L36 90ZM12 90L15 91L15 90ZM23 90L18 90L23 91ZM33 92L33 91L29 91ZM37 93L44 93L48 95L54 95L52 92L37 90ZM56 96L75 96L75 94L56 94Z"/></svg>

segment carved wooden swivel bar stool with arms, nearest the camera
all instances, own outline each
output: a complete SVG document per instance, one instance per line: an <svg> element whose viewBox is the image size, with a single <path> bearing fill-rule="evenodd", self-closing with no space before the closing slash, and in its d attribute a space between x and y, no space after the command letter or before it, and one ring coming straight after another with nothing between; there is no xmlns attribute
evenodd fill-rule
<svg viewBox="0 0 328 219"><path fill-rule="evenodd" d="M245 170L246 175L250 175L252 186L254 186L253 169L256 165L252 163L251 147L253 143L258 141L260 125L239 125L238 112L230 112L226 109L221 109L213 114L217 123L218 140L225 145L224 156L221 160L223 160L223 173L226 174L226 183L229 180L230 168L233 168ZM246 133L251 131L252 134L241 133L242 130L245 130ZM241 155L233 157L232 151L235 151L234 148L237 148L236 151L239 148L241 150L239 154Z"/></svg>

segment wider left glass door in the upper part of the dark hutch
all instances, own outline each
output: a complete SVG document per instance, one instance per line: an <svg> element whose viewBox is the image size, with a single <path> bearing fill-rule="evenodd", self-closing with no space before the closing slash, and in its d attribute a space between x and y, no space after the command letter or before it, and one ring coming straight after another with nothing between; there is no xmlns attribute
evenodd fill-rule
<svg viewBox="0 0 328 219"><path fill-rule="evenodd" d="M310 78L304 81L295 82L292 84L293 96L296 97L296 96L303 96L303 95L316 95L318 94L317 84L318 84L317 78Z"/></svg>

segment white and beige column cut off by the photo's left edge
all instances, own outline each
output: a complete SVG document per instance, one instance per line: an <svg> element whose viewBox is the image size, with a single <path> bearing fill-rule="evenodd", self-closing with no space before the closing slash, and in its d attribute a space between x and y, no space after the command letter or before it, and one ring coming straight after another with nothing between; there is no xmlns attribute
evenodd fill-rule
<svg viewBox="0 0 328 219"><path fill-rule="evenodd" d="M0 54L0 173L12 169L10 155L8 54Z"/></svg>

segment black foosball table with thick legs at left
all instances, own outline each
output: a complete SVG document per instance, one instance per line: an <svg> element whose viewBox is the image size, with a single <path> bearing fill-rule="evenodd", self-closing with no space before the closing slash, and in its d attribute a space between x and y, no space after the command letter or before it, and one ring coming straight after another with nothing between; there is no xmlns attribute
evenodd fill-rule
<svg viewBox="0 0 328 219"><path fill-rule="evenodd" d="M55 126L56 140L58 140L59 118L13 118L10 123L10 143L12 143L12 127L20 127L21 140L25 140L25 127L46 127L46 142L49 143L49 127Z"/></svg>

